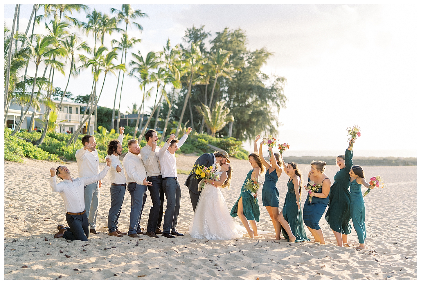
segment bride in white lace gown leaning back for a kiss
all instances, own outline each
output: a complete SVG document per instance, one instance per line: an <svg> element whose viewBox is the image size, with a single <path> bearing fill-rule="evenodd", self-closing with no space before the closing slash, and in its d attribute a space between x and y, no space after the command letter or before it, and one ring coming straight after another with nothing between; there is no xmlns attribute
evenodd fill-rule
<svg viewBox="0 0 421 284"><path fill-rule="evenodd" d="M229 240L241 238L247 233L245 228L232 220L226 206L221 188L229 188L232 177L232 166L224 164L218 181L206 183L197 203L195 214L190 223L189 234L193 238L206 238L210 240ZM211 182L210 180L208 182Z"/></svg>

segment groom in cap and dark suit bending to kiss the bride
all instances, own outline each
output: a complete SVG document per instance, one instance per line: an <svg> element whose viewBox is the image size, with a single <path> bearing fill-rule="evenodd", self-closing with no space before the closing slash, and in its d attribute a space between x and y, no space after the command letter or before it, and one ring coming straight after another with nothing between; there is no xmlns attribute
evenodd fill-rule
<svg viewBox="0 0 421 284"><path fill-rule="evenodd" d="M226 151L224 150L213 154L205 153L199 158L197 158L195 166L199 165L205 166L207 168L213 166L213 168L215 168L216 163L218 163L220 166L225 163L229 163L228 153L226 153ZM193 166L193 168L195 166ZM191 171L189 176L187 177L186 182L184 182L184 185L186 185L189 188L190 200L192 201L193 211L196 210L197 201L199 201L200 191L197 191L197 187L199 185L200 180L202 180L202 178L199 177L197 179L197 175L193 171Z"/></svg>

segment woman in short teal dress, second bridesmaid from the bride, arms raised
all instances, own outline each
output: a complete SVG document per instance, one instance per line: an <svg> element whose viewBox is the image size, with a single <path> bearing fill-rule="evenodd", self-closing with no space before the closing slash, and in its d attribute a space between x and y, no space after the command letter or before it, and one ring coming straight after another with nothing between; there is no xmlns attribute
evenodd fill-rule
<svg viewBox="0 0 421 284"><path fill-rule="evenodd" d="M256 139L260 138L260 135L256 136ZM264 178L264 184L262 187L262 203L266 207L270 218L272 219L273 228L275 229L275 240L279 240L281 236L281 224L278 221L279 215L279 191L276 188L276 182L282 174L281 162L279 161L279 154L273 153L272 147L269 147L271 156L269 163L266 162L263 157L262 146L264 141L260 143L259 158L263 162L266 168L266 174ZM276 163L274 160L276 159Z"/></svg>

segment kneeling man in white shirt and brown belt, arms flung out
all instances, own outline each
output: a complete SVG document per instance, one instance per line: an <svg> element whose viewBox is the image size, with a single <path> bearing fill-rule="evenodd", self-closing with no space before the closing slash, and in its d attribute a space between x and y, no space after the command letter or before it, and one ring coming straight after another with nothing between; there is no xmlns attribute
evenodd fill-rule
<svg viewBox="0 0 421 284"><path fill-rule="evenodd" d="M85 211L85 199L83 193L85 186L94 182L102 180L109 170L111 160L106 159L107 165L104 169L92 177L77 177L72 178L70 171L66 166L58 166L56 169L50 169L50 186L53 192L58 192L63 198L64 210L66 213L66 221L69 227L58 225L59 232L54 235L54 238L65 238L69 241L88 241L90 236L89 222ZM57 184L56 175L63 182Z"/></svg>

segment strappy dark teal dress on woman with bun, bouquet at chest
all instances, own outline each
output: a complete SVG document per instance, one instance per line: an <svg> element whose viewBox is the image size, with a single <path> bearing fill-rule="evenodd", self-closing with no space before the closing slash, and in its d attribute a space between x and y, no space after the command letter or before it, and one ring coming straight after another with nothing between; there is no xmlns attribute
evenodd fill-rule
<svg viewBox="0 0 421 284"><path fill-rule="evenodd" d="M325 180L328 180L328 178L325 178ZM323 184L322 180L322 184ZM309 182L310 182L310 176L309 176ZM319 188L315 191L315 193L321 193L322 188ZM304 223L307 227L312 228L313 230L319 230L319 221L323 216L323 213L325 213L325 209L328 206L329 203L329 196L326 198L320 198L313 196L312 202L309 202L309 193L307 193L306 202L304 203L303 208L303 219Z"/></svg>

